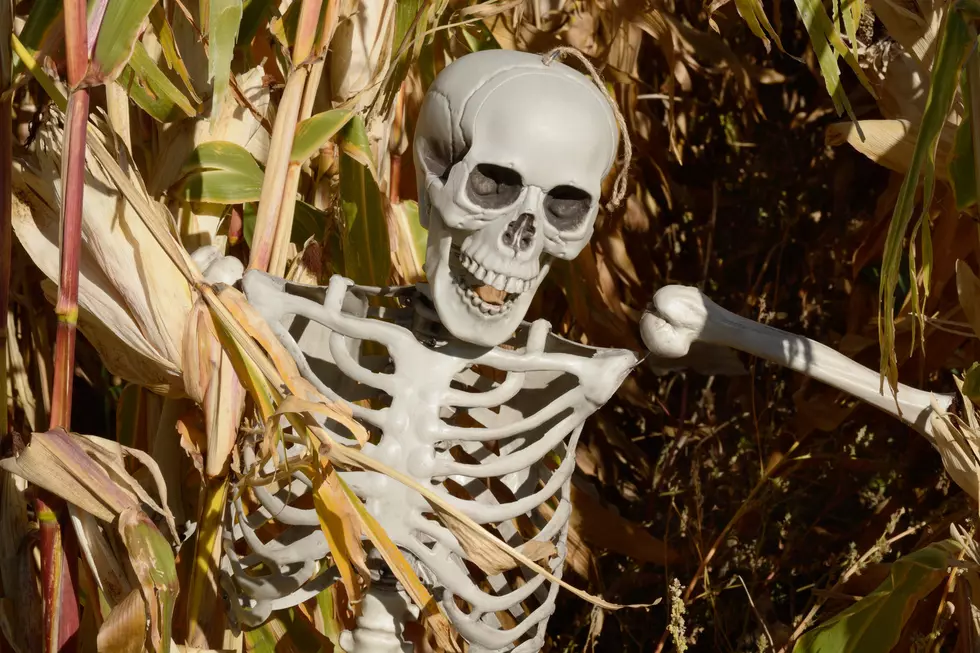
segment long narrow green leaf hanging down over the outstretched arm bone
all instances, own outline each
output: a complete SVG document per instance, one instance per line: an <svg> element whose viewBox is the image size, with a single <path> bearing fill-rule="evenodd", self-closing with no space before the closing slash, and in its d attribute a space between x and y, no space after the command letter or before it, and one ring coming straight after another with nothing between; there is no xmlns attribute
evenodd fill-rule
<svg viewBox="0 0 980 653"><path fill-rule="evenodd" d="M895 287L905 253L904 241L912 212L915 209L919 179L925 184L924 207L928 211L935 178L936 147L950 106L959 86L960 72L972 44L969 26L963 15L951 10L944 19L939 47L932 70L932 84L926 99L919 136L909 162L895 211L888 227L882 259L882 279L879 288L878 340L881 345L881 373L894 389L898 383L898 362L895 356ZM913 277L912 283L916 283Z"/></svg>

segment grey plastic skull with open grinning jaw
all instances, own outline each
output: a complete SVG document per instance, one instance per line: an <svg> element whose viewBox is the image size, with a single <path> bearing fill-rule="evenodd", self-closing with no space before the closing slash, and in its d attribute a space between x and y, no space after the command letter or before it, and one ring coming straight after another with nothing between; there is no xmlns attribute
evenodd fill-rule
<svg viewBox="0 0 980 653"><path fill-rule="evenodd" d="M561 63L488 50L438 75L414 155L425 271L450 333L485 346L513 335L552 259L589 242L618 146L609 100Z"/></svg>

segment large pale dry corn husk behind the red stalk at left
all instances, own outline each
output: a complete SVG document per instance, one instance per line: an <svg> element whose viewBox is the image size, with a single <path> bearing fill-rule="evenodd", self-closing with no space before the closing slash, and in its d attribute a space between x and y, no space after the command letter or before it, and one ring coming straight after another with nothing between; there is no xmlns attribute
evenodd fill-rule
<svg viewBox="0 0 980 653"><path fill-rule="evenodd" d="M14 233L48 277L49 300L60 266L62 125L63 116L52 112L32 156L14 168ZM117 151L104 127L90 132L90 138ZM128 157L125 151L119 155ZM190 286L90 152L85 186L79 327L110 372L156 392L181 395Z"/></svg>

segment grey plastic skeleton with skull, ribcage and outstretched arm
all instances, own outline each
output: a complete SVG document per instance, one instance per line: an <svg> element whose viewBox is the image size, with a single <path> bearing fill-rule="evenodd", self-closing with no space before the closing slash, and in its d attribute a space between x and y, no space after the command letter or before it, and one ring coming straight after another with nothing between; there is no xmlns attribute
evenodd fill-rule
<svg viewBox="0 0 980 653"><path fill-rule="evenodd" d="M609 98L574 69L513 51L468 55L435 80L416 130L428 284L382 291L335 276L324 288L257 271L242 279L304 377L370 427L368 455L437 488L512 546L551 543L545 564L555 575L582 425L640 356L572 343L523 318L550 262L574 258L588 242L618 138ZM200 258L216 265L209 256ZM878 394L877 374L735 316L693 288L661 289L640 327L662 360L683 362L692 345L741 349L897 414L894 399ZM927 433L932 395L902 386L898 396L902 419ZM302 452L287 442L284 453ZM249 446L242 459L257 464ZM471 651L542 647L556 584L523 568L482 573L420 496L375 473L343 475ZM329 550L310 490L294 472L249 488L256 509L232 503L223 582L245 625L334 581L321 571ZM417 609L383 565L376 573L341 644L356 653L410 651L404 626Z"/></svg>

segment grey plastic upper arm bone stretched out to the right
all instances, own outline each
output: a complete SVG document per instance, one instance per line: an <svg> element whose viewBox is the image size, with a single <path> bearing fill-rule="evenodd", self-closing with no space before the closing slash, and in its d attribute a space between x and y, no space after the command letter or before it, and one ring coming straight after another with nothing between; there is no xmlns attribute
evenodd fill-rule
<svg viewBox="0 0 980 653"><path fill-rule="evenodd" d="M840 352L735 315L689 286L661 288L640 320L640 334L647 348L662 358L683 358L693 344L704 343L778 363L897 417L930 442L934 441L932 416L948 411L954 399L903 384L897 397L882 393L876 372Z"/></svg>

